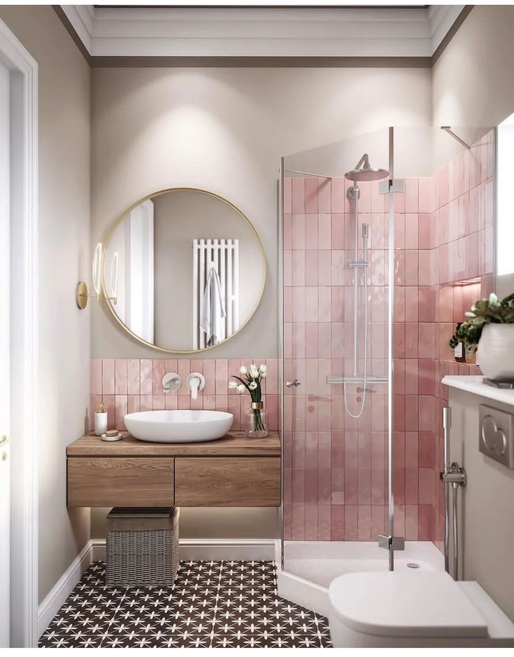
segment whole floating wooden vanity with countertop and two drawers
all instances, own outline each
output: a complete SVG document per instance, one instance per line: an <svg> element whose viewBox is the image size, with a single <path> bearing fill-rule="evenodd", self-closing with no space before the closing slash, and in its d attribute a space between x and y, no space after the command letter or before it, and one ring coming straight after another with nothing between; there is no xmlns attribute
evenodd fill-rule
<svg viewBox="0 0 514 657"><path fill-rule="evenodd" d="M280 438L204 443L86 435L66 448L69 507L280 507Z"/></svg>

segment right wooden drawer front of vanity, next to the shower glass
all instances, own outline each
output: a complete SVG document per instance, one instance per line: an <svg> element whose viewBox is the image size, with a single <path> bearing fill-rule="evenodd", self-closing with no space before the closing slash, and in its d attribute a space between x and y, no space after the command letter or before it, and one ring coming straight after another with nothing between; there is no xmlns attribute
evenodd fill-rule
<svg viewBox="0 0 514 657"><path fill-rule="evenodd" d="M178 507L280 507L280 458L177 458Z"/></svg>

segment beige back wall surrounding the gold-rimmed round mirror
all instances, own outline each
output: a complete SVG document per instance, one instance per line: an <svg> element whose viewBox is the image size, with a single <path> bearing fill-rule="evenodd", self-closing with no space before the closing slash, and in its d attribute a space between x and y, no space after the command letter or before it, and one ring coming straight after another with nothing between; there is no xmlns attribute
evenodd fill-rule
<svg viewBox="0 0 514 657"><path fill-rule="evenodd" d="M276 358L280 156L387 125L430 125L429 69L94 69L92 235L137 199L193 186L229 199L264 243L268 283L249 325L209 358ZM104 309L93 358L148 358Z"/></svg>

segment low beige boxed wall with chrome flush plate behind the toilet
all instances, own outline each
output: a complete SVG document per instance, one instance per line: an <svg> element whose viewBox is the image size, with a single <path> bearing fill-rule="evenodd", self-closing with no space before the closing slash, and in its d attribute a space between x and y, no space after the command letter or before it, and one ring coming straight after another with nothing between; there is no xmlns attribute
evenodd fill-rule
<svg viewBox="0 0 514 657"><path fill-rule="evenodd" d="M459 491L462 579L478 581L514 620L514 470L478 451L478 405L514 412L514 407L450 390L450 459L466 469Z"/></svg>

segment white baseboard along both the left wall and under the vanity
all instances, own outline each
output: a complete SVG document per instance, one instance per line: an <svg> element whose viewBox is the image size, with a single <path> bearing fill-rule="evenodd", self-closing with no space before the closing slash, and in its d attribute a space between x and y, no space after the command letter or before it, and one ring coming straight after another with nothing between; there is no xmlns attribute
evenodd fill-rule
<svg viewBox="0 0 514 657"><path fill-rule="evenodd" d="M276 539L180 539L180 558L185 560L273 560ZM91 539L38 607L41 636L87 567L106 558L105 539Z"/></svg>

